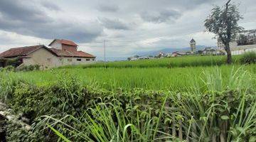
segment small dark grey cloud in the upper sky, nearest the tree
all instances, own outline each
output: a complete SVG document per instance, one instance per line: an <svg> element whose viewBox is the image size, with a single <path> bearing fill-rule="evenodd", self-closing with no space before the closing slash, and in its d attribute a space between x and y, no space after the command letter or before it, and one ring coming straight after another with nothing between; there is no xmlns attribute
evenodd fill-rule
<svg viewBox="0 0 256 142"><path fill-rule="evenodd" d="M181 16L181 13L174 10L164 11L144 11L140 13L142 19L146 22L163 23L166 21L174 21Z"/></svg>

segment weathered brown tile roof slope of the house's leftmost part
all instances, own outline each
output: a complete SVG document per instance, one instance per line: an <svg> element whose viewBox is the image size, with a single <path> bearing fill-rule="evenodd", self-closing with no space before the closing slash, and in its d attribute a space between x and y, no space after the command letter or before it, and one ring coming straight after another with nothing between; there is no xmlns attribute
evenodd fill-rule
<svg viewBox="0 0 256 142"><path fill-rule="evenodd" d="M34 45L34 46L26 46L21 48L11 48L6 50L4 53L0 53L0 58L14 58L18 56L27 56L29 53L32 53L39 48L46 48L45 45Z"/></svg>

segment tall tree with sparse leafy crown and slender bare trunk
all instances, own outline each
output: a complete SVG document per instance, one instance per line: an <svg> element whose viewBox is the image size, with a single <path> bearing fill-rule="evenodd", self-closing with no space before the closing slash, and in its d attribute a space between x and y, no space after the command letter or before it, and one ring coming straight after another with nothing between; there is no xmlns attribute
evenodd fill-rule
<svg viewBox="0 0 256 142"><path fill-rule="evenodd" d="M230 1L228 0L223 7L215 6L204 24L206 31L215 33L215 38L220 38L225 45L228 64L232 62L229 43L243 29L241 26L238 26L238 21L242 19L238 11L238 6L230 4Z"/></svg>

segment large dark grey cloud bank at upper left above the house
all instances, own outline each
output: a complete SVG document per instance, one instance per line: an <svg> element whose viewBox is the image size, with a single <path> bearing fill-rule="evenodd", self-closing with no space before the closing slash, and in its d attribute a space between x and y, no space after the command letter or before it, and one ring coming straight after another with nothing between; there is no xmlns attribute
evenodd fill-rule
<svg viewBox="0 0 256 142"><path fill-rule="evenodd" d="M102 33L102 26L97 21L72 23L53 19L38 9L40 6L32 6L32 1L26 2L0 1L1 30L46 39L68 38L76 42L90 42Z"/></svg>

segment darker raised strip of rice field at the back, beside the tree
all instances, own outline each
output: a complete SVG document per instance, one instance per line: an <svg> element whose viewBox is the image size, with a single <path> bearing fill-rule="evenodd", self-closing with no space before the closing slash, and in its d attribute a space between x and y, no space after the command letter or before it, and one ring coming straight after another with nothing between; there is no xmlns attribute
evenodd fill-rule
<svg viewBox="0 0 256 142"><path fill-rule="evenodd" d="M239 64L241 56L233 56L233 63ZM81 65L80 67L198 67L198 66L215 66L225 65L225 56L181 56L177 58L159 58L149 60L132 60L132 61L116 61L116 62L99 62L91 65ZM71 66L73 67L73 66Z"/></svg>

